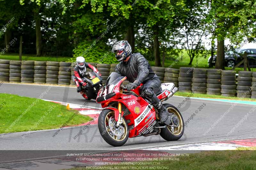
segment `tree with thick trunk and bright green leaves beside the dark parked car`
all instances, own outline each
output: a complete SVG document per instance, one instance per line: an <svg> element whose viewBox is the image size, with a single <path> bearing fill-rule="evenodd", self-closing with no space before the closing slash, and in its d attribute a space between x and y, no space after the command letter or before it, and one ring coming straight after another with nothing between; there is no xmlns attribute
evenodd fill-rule
<svg viewBox="0 0 256 170"><path fill-rule="evenodd" d="M214 23L215 33L213 36L217 38L215 68L224 69L224 40L229 38L231 42L237 43L242 41L244 36L248 37L248 33L253 33L252 30L255 33L255 29L253 29L255 28L255 25L253 26L255 9L250 11L254 3L243 0L211 0L208 2L210 4L208 22ZM251 35L249 34L252 39Z"/></svg>

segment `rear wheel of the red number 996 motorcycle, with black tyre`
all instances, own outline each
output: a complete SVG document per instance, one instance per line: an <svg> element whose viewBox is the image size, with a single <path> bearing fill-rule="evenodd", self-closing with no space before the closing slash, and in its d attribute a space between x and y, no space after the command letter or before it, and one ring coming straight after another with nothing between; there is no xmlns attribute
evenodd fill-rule
<svg viewBox="0 0 256 170"><path fill-rule="evenodd" d="M163 137L167 141L175 141L179 140L184 133L184 121L180 111L173 105L165 103L164 107L168 110L169 114L174 114L179 119L178 127L171 127L170 125L166 125L165 128L161 129L160 136Z"/></svg>

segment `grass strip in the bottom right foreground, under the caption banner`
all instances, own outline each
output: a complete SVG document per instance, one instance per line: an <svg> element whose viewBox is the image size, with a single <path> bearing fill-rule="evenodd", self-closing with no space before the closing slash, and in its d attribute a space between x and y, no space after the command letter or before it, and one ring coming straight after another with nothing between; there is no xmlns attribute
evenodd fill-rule
<svg viewBox="0 0 256 170"><path fill-rule="evenodd" d="M255 150L250 148L251 150ZM169 157L170 158L170 157ZM177 170L253 170L256 167L255 151L205 151L200 153L189 154L189 156L172 157L163 161L148 161L151 165L141 162L135 166L115 165L102 166L101 169L177 169ZM178 160L177 160L178 159ZM153 164L155 163L155 165ZM126 168L124 168L126 167ZM100 168L100 167L99 167ZM92 168L71 168L69 170L85 170ZM94 169L94 168L93 168ZM95 168L96 169L96 168Z"/></svg>

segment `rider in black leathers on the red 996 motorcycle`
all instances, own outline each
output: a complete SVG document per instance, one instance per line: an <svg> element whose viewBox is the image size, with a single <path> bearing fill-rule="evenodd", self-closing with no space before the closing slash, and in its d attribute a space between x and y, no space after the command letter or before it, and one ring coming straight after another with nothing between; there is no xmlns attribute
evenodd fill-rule
<svg viewBox="0 0 256 170"><path fill-rule="evenodd" d="M116 53L116 59L120 62L116 65L116 72L126 76L130 82L126 85L127 90L131 91L142 83L140 95L153 104L159 113L161 123L170 124L171 117L155 94L161 88L161 81L146 58L140 53L132 54L132 48L128 41L116 42L112 48L112 53Z"/></svg>

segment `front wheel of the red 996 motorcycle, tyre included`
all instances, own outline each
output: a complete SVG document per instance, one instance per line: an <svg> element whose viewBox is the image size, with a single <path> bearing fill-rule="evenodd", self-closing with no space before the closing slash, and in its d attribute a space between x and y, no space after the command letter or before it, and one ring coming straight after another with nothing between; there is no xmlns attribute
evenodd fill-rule
<svg viewBox="0 0 256 170"><path fill-rule="evenodd" d="M123 123L116 127L115 112L113 110L102 110L98 127L101 137L112 146L122 146L128 140L128 124L123 118Z"/></svg>

